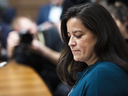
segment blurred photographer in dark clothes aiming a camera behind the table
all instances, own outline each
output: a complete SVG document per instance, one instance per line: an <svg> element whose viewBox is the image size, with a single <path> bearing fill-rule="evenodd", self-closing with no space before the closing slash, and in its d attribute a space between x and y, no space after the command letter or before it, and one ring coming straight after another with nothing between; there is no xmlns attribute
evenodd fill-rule
<svg viewBox="0 0 128 96"><path fill-rule="evenodd" d="M62 42L57 30L38 32L36 23L25 16L16 17L12 27L15 31L10 32L7 38L8 57L33 67L53 92L60 83L56 74L56 64ZM31 44L21 43L19 33L22 30L32 35Z"/></svg>

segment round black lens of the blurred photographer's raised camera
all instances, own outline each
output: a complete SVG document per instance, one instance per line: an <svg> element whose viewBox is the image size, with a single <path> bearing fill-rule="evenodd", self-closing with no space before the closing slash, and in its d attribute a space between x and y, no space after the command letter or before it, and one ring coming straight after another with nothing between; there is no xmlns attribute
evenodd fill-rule
<svg viewBox="0 0 128 96"><path fill-rule="evenodd" d="M20 44L30 45L33 40L32 34L28 30L22 30L19 32Z"/></svg>

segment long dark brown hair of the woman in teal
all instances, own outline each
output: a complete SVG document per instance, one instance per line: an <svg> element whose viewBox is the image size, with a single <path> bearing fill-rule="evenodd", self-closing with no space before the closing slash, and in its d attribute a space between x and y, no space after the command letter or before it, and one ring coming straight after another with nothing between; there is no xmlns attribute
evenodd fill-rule
<svg viewBox="0 0 128 96"><path fill-rule="evenodd" d="M128 72L128 45L110 13L100 4L87 3L71 7L61 21L61 34L66 47L57 65L60 79L68 85L74 85L76 74L87 67L84 62L74 61L68 46L67 21L78 18L96 37L94 51L99 60L113 62ZM70 65L70 68L69 68Z"/></svg>

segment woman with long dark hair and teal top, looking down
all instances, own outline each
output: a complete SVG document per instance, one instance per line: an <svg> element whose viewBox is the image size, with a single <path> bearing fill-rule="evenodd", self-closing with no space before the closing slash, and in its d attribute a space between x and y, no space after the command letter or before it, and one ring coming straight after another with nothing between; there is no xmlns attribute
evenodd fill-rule
<svg viewBox="0 0 128 96"><path fill-rule="evenodd" d="M57 72L73 86L69 96L128 96L128 46L102 5L70 8L61 34L66 48Z"/></svg>

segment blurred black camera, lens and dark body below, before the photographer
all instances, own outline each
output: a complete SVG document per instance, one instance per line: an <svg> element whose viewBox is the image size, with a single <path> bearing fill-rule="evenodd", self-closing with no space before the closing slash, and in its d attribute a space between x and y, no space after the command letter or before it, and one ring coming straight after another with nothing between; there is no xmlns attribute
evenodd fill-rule
<svg viewBox="0 0 128 96"><path fill-rule="evenodd" d="M19 37L20 37L20 44L15 46L15 49L13 51L14 58L18 63L27 64L28 56L31 55L31 52L27 47L31 45L33 40L33 35L30 34L28 30L22 30L19 32Z"/></svg>

